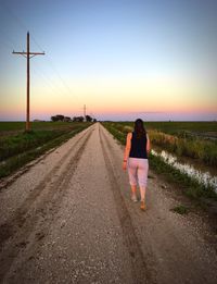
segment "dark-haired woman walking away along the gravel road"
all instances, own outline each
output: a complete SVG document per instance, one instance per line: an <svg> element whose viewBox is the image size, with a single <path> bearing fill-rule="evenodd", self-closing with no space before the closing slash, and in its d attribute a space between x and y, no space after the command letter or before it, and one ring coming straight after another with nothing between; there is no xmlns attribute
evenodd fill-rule
<svg viewBox="0 0 217 284"><path fill-rule="evenodd" d="M140 188L141 210L145 210L145 190L148 181L150 139L144 129L143 121L136 120L135 131L127 134L123 161L123 170L128 169L131 186L131 200L137 202L137 182Z"/></svg>

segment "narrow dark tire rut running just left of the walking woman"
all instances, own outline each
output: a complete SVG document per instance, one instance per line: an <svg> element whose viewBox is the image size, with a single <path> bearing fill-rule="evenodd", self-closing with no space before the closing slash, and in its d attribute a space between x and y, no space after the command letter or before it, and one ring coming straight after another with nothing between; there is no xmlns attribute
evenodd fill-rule
<svg viewBox="0 0 217 284"><path fill-rule="evenodd" d="M101 126L102 127L102 126ZM108 173L108 180L111 183L111 189L114 195L114 200L116 203L117 214L120 221L123 237L125 245L129 251L130 260L131 260L131 271L132 276L135 279L135 283L156 283L154 275L152 275L151 270L145 263L145 259L140 247L137 234L135 232L135 227L132 225L132 221L130 214L127 210L125 200L119 190L118 182L115 177L115 172L113 169L113 164L108 157L106 148L111 148L110 141L104 135L104 133L99 128L100 143L102 147L102 152L104 156L105 165ZM106 147L105 147L106 145Z"/></svg>

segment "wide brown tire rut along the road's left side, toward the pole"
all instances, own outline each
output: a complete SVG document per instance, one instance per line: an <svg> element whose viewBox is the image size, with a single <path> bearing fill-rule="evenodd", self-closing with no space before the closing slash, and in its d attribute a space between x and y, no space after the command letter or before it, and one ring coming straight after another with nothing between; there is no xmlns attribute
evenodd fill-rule
<svg viewBox="0 0 217 284"><path fill-rule="evenodd" d="M84 141L80 144L76 153L71 157L69 162L65 165L64 171L52 183L52 176L58 172L61 166L61 163L69 156L73 151L67 152L59 162L52 171L43 178L43 181L34 188L33 194L25 200L25 202L16 210L14 218L11 219L8 223L4 223L2 227L8 227L10 231L8 235L2 239L3 243L11 238L11 242L5 244L5 247L2 247L2 254L0 257L0 282L3 280L7 272L10 270L14 259L21 252L21 249L26 248L27 246L34 246L35 242L43 238L48 232L50 224L52 223L55 214L59 211L61 200L63 198L63 190L67 187L69 181L72 180L73 174L77 169L77 164L82 156L84 149L92 134L93 129L89 129L81 139ZM80 139L76 141L77 146L80 143ZM38 200L40 194L48 189L48 193L42 197L42 200ZM36 200L37 199L37 200ZM36 202L36 208L34 203ZM33 212L29 212L29 211ZM46 218L46 219L44 219ZM40 231L34 236L34 242L28 243L30 234L34 232L34 229L39 223ZM36 233L36 232L35 232Z"/></svg>

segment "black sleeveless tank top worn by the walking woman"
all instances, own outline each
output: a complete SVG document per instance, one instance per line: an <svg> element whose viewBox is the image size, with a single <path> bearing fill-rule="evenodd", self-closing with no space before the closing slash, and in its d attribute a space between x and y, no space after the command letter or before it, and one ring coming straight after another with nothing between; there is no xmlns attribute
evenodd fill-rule
<svg viewBox="0 0 217 284"><path fill-rule="evenodd" d="M136 133L132 132L131 148L130 148L129 157L148 159L146 135L142 135L140 138L137 138Z"/></svg>

